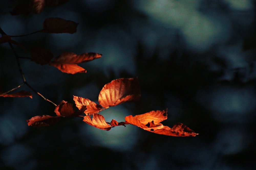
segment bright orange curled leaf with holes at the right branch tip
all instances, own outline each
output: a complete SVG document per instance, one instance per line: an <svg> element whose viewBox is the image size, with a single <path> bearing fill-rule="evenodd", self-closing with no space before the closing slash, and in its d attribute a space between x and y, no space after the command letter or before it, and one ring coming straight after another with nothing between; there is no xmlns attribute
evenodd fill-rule
<svg viewBox="0 0 256 170"><path fill-rule="evenodd" d="M150 114L152 114L152 118ZM151 111L145 114L136 115L136 116L126 116L125 121L129 124L138 126L140 128L143 128L144 130L162 134L162 135L168 135L168 136L196 136L196 134L193 130L188 128L187 126L183 125L182 123L176 123L173 128L170 128L168 126L164 126L163 124L159 123L162 120L165 120L165 116L167 119L167 111Z"/></svg>

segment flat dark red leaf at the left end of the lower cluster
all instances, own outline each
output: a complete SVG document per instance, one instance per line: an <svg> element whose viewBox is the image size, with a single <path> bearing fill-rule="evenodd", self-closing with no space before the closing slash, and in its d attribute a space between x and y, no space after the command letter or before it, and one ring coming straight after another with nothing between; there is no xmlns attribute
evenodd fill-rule
<svg viewBox="0 0 256 170"><path fill-rule="evenodd" d="M27 120L28 126L50 126L57 122L59 122L59 116L49 116L49 115L42 115L42 116L34 116L31 119Z"/></svg>

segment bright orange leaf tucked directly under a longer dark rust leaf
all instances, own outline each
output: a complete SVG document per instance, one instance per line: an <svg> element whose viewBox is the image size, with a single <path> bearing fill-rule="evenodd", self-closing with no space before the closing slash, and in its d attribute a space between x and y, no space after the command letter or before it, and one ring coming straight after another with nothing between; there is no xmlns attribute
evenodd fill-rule
<svg viewBox="0 0 256 170"><path fill-rule="evenodd" d="M86 70L77 64L62 64L55 61L49 62L50 66L54 66L63 73L70 73L70 74L76 74L76 73L86 73Z"/></svg>

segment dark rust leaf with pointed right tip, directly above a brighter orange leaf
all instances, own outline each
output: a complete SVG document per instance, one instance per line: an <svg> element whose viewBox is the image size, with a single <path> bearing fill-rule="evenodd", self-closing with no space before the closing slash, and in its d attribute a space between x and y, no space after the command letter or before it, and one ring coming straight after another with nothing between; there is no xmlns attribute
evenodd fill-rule
<svg viewBox="0 0 256 170"><path fill-rule="evenodd" d="M58 63L67 63L67 64L78 64L83 62L89 62L94 59L100 58L102 54L98 53L83 53L80 55L77 55L72 52L65 52L59 55L54 59L55 62Z"/></svg>

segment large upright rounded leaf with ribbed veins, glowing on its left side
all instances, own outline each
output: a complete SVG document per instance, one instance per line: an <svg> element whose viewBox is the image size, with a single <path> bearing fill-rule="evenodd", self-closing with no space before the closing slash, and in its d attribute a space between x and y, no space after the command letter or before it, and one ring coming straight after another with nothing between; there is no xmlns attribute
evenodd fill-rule
<svg viewBox="0 0 256 170"><path fill-rule="evenodd" d="M138 101L141 96L138 78L121 78L105 84L99 94L103 107L116 106L124 102Z"/></svg>

